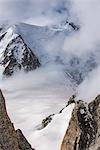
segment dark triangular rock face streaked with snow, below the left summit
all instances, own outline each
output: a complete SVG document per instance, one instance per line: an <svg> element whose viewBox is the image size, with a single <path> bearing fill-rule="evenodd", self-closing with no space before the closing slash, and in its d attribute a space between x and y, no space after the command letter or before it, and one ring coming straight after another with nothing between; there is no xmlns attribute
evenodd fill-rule
<svg viewBox="0 0 100 150"><path fill-rule="evenodd" d="M7 36L6 34L4 33L0 40ZM4 67L3 75L5 76L11 76L18 70L28 72L40 66L38 58L20 35L13 37L7 44L0 64Z"/></svg>

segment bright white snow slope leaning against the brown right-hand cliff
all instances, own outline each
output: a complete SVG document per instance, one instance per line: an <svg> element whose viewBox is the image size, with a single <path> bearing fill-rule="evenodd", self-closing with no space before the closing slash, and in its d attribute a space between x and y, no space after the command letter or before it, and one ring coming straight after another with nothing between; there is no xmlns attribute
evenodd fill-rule
<svg viewBox="0 0 100 150"><path fill-rule="evenodd" d="M69 105L62 113L56 114L44 129L31 134L30 141L36 150L60 150L74 106Z"/></svg>

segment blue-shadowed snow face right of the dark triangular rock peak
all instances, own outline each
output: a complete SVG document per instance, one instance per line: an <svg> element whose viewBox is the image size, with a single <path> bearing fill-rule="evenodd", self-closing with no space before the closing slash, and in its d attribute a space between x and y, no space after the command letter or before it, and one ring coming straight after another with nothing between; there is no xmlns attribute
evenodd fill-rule
<svg viewBox="0 0 100 150"><path fill-rule="evenodd" d="M72 31L66 28L51 26L35 26L24 23L16 25L16 32L20 34L25 43L38 56L42 64L53 61L58 53L62 53L62 45L66 36ZM57 52L56 52L57 51Z"/></svg>

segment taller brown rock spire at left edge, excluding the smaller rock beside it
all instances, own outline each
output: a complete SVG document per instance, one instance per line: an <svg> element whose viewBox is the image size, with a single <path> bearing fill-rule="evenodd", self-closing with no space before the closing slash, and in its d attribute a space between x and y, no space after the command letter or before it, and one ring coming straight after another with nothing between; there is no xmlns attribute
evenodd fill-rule
<svg viewBox="0 0 100 150"><path fill-rule="evenodd" d="M0 150L19 150L17 135L8 117L5 99L0 90Z"/></svg>

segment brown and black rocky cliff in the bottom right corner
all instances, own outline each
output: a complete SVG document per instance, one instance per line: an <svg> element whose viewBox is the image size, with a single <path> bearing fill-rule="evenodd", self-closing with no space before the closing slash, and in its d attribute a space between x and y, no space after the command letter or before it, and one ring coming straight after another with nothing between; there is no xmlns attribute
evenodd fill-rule
<svg viewBox="0 0 100 150"><path fill-rule="evenodd" d="M100 95L90 104L76 102L61 150L100 149Z"/></svg>

